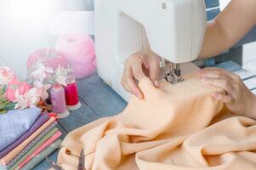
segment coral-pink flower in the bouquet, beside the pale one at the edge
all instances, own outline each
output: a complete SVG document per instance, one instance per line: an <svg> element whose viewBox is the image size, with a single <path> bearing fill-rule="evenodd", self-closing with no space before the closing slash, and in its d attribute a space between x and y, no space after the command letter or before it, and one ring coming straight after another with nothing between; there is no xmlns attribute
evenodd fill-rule
<svg viewBox="0 0 256 170"><path fill-rule="evenodd" d="M8 84L6 97L9 101L14 102L16 100L16 91L19 95L24 95L29 89L31 89L31 86L27 82L20 82L17 78L14 78Z"/></svg>

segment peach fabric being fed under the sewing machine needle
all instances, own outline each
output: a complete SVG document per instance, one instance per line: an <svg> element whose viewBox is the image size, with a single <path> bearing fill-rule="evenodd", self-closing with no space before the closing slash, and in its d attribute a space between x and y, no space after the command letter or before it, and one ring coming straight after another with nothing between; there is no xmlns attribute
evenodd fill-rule
<svg viewBox="0 0 256 170"><path fill-rule="evenodd" d="M203 85L196 74L155 88L139 82L121 114L69 133L58 156L65 170L77 169L83 149L85 168L94 170L256 169L256 121L235 116L212 98L220 89Z"/></svg>

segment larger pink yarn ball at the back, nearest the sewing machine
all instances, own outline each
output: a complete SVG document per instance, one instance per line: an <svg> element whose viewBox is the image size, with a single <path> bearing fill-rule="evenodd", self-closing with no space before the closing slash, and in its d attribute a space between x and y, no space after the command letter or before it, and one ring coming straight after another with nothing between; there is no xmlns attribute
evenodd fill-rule
<svg viewBox="0 0 256 170"><path fill-rule="evenodd" d="M58 38L55 47L67 54L74 77L88 77L96 70L94 40L90 36L61 36Z"/></svg>

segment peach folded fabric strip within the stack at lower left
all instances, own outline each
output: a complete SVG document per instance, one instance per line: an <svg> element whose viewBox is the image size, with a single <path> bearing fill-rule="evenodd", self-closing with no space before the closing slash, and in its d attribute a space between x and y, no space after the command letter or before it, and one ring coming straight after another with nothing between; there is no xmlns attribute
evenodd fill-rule
<svg viewBox="0 0 256 170"><path fill-rule="evenodd" d="M21 150L23 150L27 144L30 144L33 139L35 139L38 134L42 133L43 130L45 130L50 124L52 124L55 121L54 117L51 117L48 122L45 122L42 127L39 127L35 133L32 133L29 138L24 140L21 144L19 144L14 150L11 150L9 154L6 156L3 156L3 158L0 159L0 163L3 165L6 165L11 161L15 156L17 156Z"/></svg>

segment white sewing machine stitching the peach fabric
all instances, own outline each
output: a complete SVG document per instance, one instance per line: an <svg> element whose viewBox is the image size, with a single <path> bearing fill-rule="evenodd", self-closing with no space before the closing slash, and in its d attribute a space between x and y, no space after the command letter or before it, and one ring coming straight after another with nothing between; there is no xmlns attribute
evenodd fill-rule
<svg viewBox="0 0 256 170"><path fill-rule="evenodd" d="M174 83L183 81L179 64L196 59L202 48L204 0L95 0L94 9L98 73L124 99L124 61L148 42Z"/></svg>

